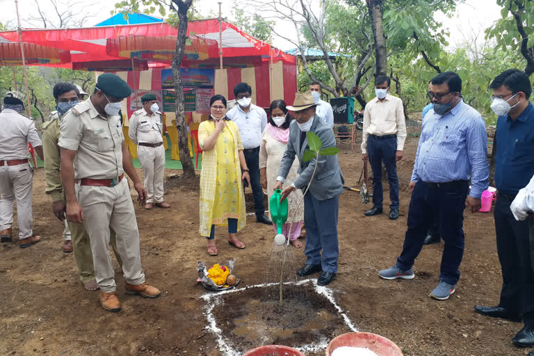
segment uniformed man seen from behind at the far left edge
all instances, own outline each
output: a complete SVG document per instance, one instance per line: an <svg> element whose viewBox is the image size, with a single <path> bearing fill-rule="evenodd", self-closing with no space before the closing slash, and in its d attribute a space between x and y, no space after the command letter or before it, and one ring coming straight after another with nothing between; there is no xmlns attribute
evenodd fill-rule
<svg viewBox="0 0 534 356"><path fill-rule="evenodd" d="M42 143L33 120L21 115L22 100L22 92L7 92L0 113L0 240L11 241L16 201L19 248L29 248L40 241L40 236L33 236L32 230L33 168L28 161L28 144L31 143L42 159Z"/></svg>

